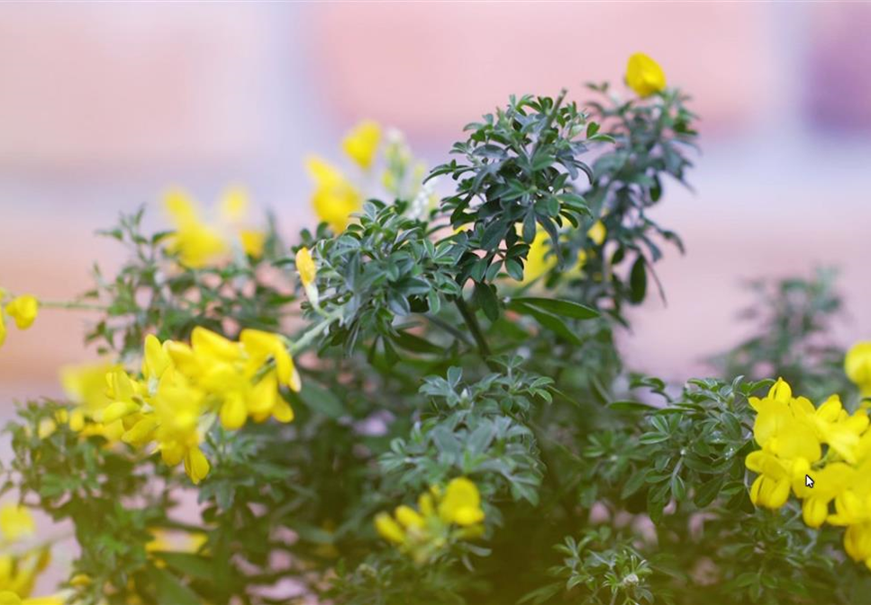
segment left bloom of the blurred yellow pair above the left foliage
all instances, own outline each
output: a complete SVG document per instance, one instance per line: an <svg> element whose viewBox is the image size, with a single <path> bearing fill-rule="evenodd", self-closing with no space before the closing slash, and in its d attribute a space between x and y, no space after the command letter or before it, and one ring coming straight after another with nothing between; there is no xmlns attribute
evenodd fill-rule
<svg viewBox="0 0 871 605"><path fill-rule="evenodd" d="M226 254L226 242L202 220L195 202L185 192L170 190L164 197L164 208L175 227L168 249L186 266L201 268Z"/></svg>

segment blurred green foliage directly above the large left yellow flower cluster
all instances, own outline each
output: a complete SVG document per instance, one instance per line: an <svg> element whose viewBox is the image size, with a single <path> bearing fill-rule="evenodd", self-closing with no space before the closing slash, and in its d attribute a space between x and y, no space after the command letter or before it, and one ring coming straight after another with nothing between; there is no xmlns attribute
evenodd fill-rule
<svg viewBox="0 0 871 605"><path fill-rule="evenodd" d="M81 300L104 304L105 315L88 330L86 342L97 343L100 353L128 360L139 355L147 334L185 339L196 326L223 332L226 318L232 319L236 332L277 328L282 309L296 299L269 284L260 270L285 248L274 223L269 223L262 257L243 255L222 266L192 268L168 252L171 231L143 232L144 215L144 207L122 214L116 227L98 231L120 242L128 260L112 278L94 266L95 287ZM171 272L168 262L175 263Z"/></svg>

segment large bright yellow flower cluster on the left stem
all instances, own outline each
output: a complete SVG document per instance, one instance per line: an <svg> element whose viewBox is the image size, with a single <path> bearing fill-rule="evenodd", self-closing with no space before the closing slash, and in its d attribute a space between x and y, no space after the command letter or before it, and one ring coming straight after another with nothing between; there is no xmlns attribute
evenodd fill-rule
<svg viewBox="0 0 871 605"><path fill-rule="evenodd" d="M68 392L78 393L83 402L70 414L70 427L134 447L154 443L168 465L183 462L194 483L209 473L200 444L216 418L229 430L240 429L249 418L290 422L294 412L279 387L300 389L284 339L260 330L242 330L235 342L195 328L189 345L161 343L150 335L141 378L115 366L104 375L107 388L99 392L94 374L65 376Z"/></svg>

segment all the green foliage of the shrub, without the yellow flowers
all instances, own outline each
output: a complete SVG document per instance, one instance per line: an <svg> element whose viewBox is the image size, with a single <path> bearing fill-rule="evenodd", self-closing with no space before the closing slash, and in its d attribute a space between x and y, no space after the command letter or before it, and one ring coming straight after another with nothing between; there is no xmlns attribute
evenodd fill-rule
<svg viewBox="0 0 871 605"><path fill-rule="evenodd" d="M289 425L208 429L190 523L190 483L159 454L77 434L65 402L24 405L4 489L75 527L72 572L91 578L78 602L265 605L293 602L288 582L353 605L868 602L833 534L791 507L753 510L743 463L762 379L830 375L839 352L813 343L837 299L819 281L776 286L729 380L627 374L615 330L662 241L681 246L649 213L685 183L694 115L676 90L594 89L603 102L522 96L470 124L460 158L431 173L456 188L426 220L370 200L340 234L304 231L319 296L301 307L274 230L262 257L204 268L145 234L141 213L107 231L129 257L86 293L105 307L88 339L133 367L147 333L280 330L303 388L282 392ZM558 262L522 283L539 230ZM377 536L377 512L458 476L482 494L480 539L420 565ZM162 529L203 545L146 549Z"/></svg>

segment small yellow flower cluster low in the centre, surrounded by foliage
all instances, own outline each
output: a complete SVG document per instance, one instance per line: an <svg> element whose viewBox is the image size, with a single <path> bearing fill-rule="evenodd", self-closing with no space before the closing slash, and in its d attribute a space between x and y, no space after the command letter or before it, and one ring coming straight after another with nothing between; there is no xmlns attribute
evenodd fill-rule
<svg viewBox="0 0 871 605"><path fill-rule="evenodd" d="M375 528L416 563L424 564L453 541L481 536L482 521L484 510L475 483L458 477L444 490L433 486L422 493L417 510L403 504L393 516L379 513Z"/></svg>

